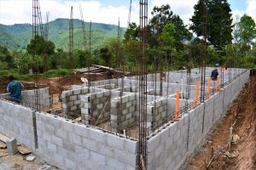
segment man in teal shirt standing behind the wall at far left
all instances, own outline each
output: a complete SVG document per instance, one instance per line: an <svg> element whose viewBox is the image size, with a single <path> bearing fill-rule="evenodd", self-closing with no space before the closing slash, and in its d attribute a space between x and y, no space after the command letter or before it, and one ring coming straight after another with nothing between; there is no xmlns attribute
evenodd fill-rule
<svg viewBox="0 0 256 170"><path fill-rule="evenodd" d="M9 83L7 85L7 92L9 93L9 100L20 103L22 100L21 97L21 88L24 88L23 84L15 80L15 77L9 76Z"/></svg>

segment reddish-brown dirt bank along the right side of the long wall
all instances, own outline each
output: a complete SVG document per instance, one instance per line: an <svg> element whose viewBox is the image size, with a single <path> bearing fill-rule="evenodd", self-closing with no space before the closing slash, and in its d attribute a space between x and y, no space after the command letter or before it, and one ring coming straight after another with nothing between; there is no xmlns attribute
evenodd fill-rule
<svg viewBox="0 0 256 170"><path fill-rule="evenodd" d="M233 135L230 135L233 127ZM237 135L239 139L237 139ZM233 138L230 136L233 136ZM182 169L255 170L256 169L256 76L242 89L207 144L195 151ZM210 141L210 142L209 142ZM229 141L232 141L230 144ZM229 149L230 144L230 149Z"/></svg>

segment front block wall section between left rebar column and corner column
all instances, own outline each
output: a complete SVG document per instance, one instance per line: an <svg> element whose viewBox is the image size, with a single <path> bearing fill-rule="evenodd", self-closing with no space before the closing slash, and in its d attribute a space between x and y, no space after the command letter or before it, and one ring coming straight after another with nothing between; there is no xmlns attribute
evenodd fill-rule
<svg viewBox="0 0 256 170"><path fill-rule="evenodd" d="M66 169L137 169L137 141L37 113L38 152Z"/></svg>

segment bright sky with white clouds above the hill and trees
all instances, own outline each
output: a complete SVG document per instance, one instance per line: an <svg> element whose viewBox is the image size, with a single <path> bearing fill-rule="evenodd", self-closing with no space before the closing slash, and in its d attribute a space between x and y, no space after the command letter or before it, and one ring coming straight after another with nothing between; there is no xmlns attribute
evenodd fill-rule
<svg viewBox="0 0 256 170"><path fill-rule="evenodd" d="M127 26L131 0L40 0L43 22L49 11L49 21L57 18L69 18L73 6L73 17L80 19L79 5L83 8L84 20ZM148 0L148 18L154 6L170 4L174 14L178 14L186 25L194 13L198 0ZM234 19L236 15L248 14L256 21L256 0L228 0ZM132 0L131 21L139 21L139 0ZM0 24L32 24L32 0L0 0Z"/></svg>

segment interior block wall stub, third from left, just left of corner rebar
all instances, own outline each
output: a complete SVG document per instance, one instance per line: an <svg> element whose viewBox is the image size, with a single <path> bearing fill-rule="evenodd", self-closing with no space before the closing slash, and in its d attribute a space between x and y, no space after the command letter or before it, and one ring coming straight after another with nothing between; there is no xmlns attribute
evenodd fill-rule
<svg viewBox="0 0 256 170"><path fill-rule="evenodd" d="M136 94L111 100L110 121L113 132L122 133L123 129L137 121ZM120 128L118 128L120 127Z"/></svg>

